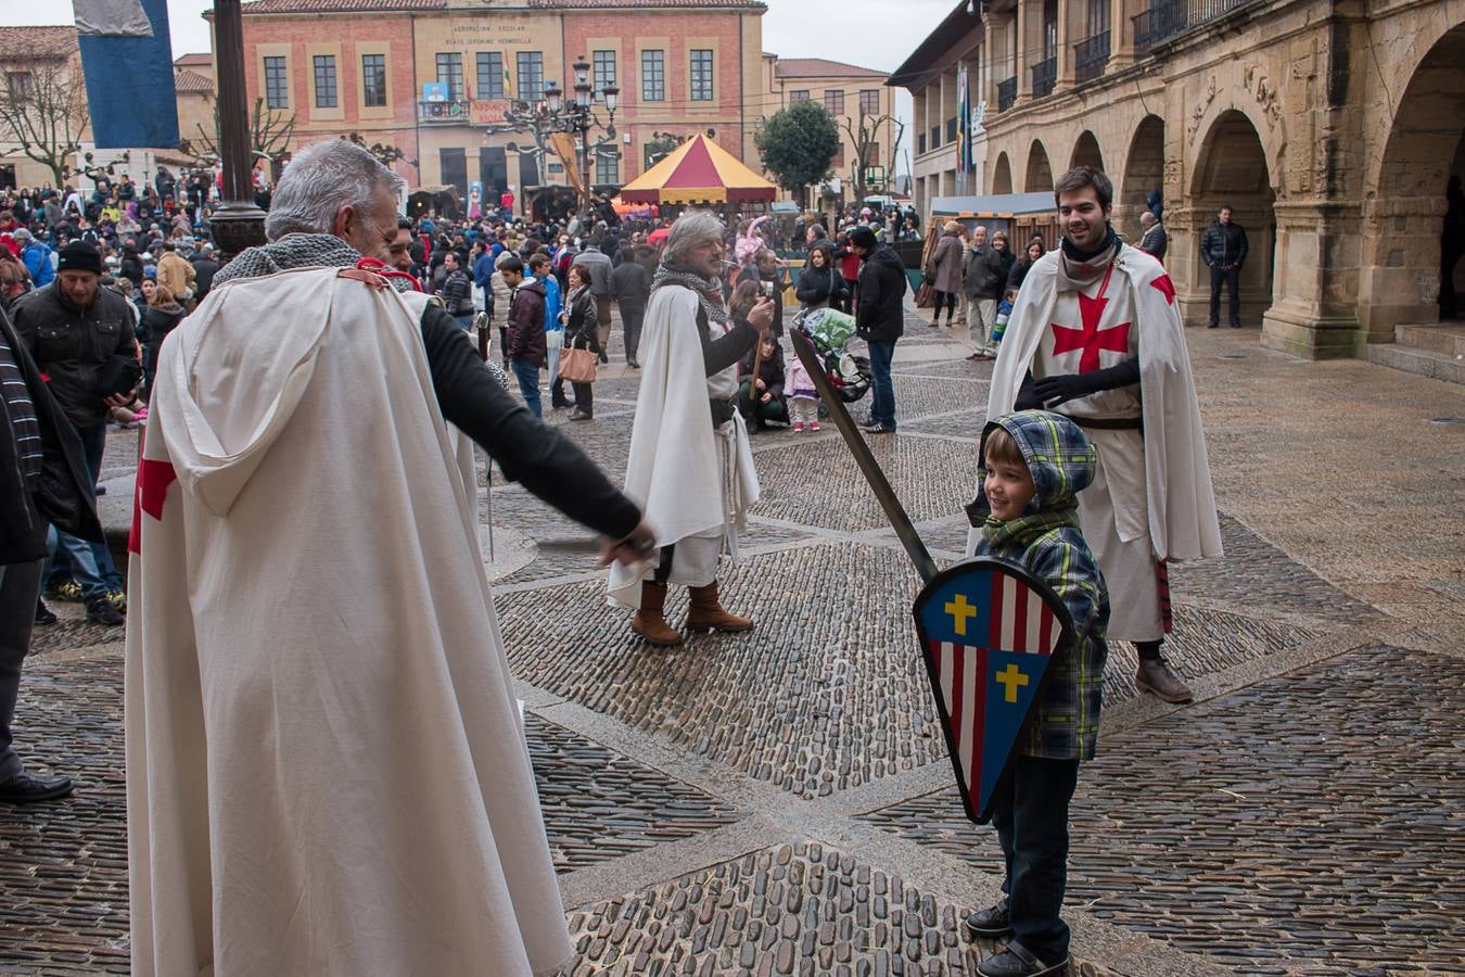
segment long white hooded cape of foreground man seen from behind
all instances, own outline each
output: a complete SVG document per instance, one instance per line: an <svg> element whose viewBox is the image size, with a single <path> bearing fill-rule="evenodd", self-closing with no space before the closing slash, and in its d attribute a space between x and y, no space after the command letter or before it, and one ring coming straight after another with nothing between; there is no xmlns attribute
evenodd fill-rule
<svg viewBox="0 0 1465 977"><path fill-rule="evenodd" d="M161 350L132 968L551 973L573 948L420 303L337 271L220 286Z"/></svg>

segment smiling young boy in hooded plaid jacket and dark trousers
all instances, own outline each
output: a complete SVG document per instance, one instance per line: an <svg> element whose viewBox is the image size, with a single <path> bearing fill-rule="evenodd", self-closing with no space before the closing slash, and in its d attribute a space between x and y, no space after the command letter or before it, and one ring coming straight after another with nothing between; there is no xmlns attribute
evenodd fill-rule
<svg viewBox="0 0 1465 977"><path fill-rule="evenodd" d="M973 516L979 557L1021 565L1068 608L1075 643L1052 664L1033 724L992 800L992 823L1006 860L1004 899L967 917L974 937L1011 942L982 961L986 977L1056 974L1068 965L1068 926L1059 918L1068 879L1068 803L1078 762L1099 738L1109 592L1078 527L1078 492L1097 454L1068 417L1020 410L987 423ZM976 523L976 519L973 519Z"/></svg>

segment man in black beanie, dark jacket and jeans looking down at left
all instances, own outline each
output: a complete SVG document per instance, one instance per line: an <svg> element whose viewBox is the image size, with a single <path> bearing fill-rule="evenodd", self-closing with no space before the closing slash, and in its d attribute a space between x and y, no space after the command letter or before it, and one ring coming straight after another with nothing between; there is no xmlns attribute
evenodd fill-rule
<svg viewBox="0 0 1465 977"><path fill-rule="evenodd" d="M48 387L82 439L92 491L101 472L107 447L107 415L125 407L130 391L101 388L98 375L114 357L136 359L132 309L127 300L101 287L101 255L94 245L73 242L60 250L56 281L25 296L15 305L15 328L35 365L50 378ZM60 549L47 580L47 590L57 596L81 598L86 612L100 623L114 615L101 609L108 601L122 609L122 576L111 562L107 546L86 543L70 533L60 533ZM91 554L91 561L85 552ZM64 557L63 557L64 554ZM66 564L79 584L76 593L64 589ZM91 565L100 577L92 577Z"/></svg>

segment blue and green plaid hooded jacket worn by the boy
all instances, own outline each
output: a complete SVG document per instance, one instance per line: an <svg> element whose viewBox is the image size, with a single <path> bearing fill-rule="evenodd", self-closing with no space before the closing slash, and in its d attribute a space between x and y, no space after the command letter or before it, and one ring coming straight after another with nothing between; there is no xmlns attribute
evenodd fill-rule
<svg viewBox="0 0 1465 977"><path fill-rule="evenodd" d="M1020 744L1024 756L1091 760L1099 741L1103 666L1109 658L1109 590L1083 530L1077 494L1094 476L1097 454L1067 417L1023 410L987 425L1017 441L1037 492L1017 519L987 517L976 555L998 557L1046 582L1068 608L1078 643L1050 666L1037 713ZM986 438L983 438L983 442Z"/></svg>

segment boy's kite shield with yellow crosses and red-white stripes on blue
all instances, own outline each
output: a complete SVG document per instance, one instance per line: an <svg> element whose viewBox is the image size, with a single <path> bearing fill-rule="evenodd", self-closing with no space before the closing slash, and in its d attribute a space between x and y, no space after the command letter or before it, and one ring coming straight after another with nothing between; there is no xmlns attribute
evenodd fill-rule
<svg viewBox="0 0 1465 977"><path fill-rule="evenodd" d="M1068 609L1021 567L979 557L932 577L913 611L961 803L984 825L1053 656L1068 653Z"/></svg>

